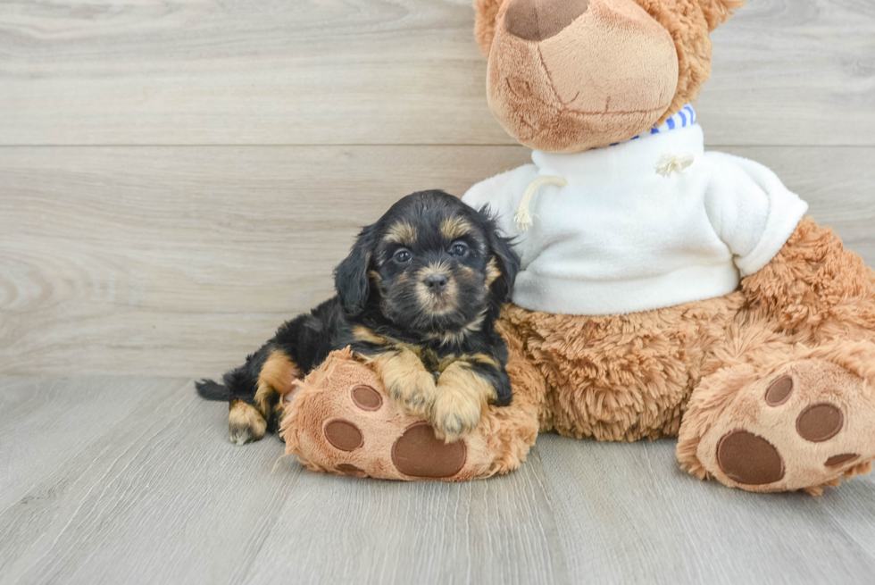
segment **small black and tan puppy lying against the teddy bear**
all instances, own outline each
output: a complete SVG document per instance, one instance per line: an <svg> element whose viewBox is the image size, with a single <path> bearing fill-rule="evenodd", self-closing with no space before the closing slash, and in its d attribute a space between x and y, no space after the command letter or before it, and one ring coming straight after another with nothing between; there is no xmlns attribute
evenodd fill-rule
<svg viewBox="0 0 875 585"><path fill-rule="evenodd" d="M443 191L406 196L359 234L335 271L337 297L283 323L276 335L198 393L229 400L232 442L279 424L280 395L329 352L371 361L389 395L452 441L487 403L509 405L507 348L496 333L520 259L485 210Z"/></svg>

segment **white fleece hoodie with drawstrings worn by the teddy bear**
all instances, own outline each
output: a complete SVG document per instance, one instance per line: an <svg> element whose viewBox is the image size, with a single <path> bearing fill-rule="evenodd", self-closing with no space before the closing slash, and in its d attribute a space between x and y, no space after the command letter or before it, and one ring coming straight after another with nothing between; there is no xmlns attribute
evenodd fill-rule
<svg viewBox="0 0 875 585"><path fill-rule="evenodd" d="M672 160L688 166L666 172ZM761 164L705 153L692 121L578 155L535 151L532 161L462 200L488 205L516 238L513 302L548 313L634 313L726 295L778 254L808 209ZM538 188L534 223L521 230L523 192L550 175L567 185Z"/></svg>

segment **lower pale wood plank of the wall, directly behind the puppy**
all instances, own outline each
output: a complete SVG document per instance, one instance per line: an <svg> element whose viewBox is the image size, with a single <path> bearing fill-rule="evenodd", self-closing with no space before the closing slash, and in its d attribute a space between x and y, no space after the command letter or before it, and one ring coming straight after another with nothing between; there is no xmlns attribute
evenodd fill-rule
<svg viewBox="0 0 875 585"><path fill-rule="evenodd" d="M735 147L875 263L875 148ZM0 148L0 373L217 375L332 295L359 226L520 146Z"/></svg>

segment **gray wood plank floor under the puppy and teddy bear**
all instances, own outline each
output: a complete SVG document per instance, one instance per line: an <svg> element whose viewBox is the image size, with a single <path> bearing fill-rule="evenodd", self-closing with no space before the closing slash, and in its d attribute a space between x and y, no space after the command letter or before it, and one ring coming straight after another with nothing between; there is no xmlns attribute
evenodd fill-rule
<svg viewBox="0 0 875 585"><path fill-rule="evenodd" d="M0 378L0 583L871 583L875 478L754 495L674 442L542 435L518 472L357 480L234 447L190 380Z"/></svg>

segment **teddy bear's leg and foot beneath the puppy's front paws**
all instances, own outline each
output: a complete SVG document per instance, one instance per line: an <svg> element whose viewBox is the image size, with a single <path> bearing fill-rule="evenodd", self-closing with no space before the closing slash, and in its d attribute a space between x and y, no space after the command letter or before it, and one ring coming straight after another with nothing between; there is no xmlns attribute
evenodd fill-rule
<svg viewBox="0 0 875 585"><path fill-rule="evenodd" d="M507 322L511 405L484 408L463 439L446 443L422 416L389 397L374 368L334 352L285 401L286 453L313 471L394 480L465 481L510 472L535 443L544 383Z"/></svg>

